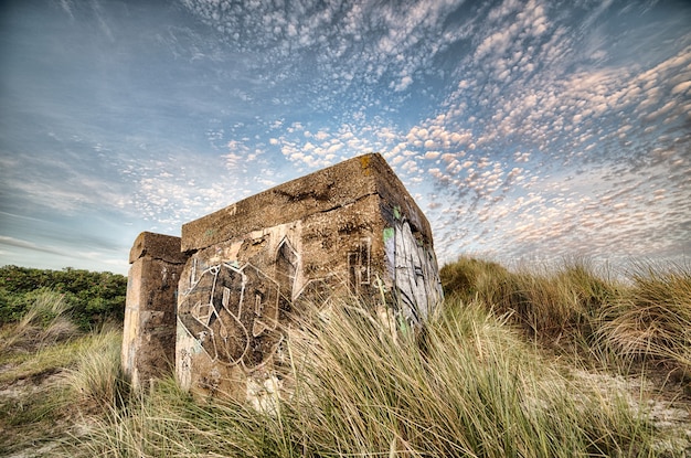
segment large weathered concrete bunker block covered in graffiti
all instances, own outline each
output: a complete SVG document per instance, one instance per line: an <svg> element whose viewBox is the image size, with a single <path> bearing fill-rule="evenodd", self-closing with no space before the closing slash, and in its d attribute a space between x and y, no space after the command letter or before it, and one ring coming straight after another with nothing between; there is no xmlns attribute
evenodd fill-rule
<svg viewBox="0 0 691 458"><path fill-rule="evenodd" d="M182 226L176 371L243 397L273 366L295 303L380 297L415 326L442 299L432 231L380 155L341 162ZM249 379L249 382L247 380Z"/></svg>

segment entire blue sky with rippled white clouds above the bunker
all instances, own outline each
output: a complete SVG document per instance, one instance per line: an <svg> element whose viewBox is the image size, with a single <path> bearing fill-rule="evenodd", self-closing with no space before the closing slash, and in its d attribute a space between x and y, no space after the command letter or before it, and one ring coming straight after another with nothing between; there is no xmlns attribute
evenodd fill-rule
<svg viewBox="0 0 691 458"><path fill-rule="evenodd" d="M0 3L0 265L381 152L439 264L691 256L691 3Z"/></svg>

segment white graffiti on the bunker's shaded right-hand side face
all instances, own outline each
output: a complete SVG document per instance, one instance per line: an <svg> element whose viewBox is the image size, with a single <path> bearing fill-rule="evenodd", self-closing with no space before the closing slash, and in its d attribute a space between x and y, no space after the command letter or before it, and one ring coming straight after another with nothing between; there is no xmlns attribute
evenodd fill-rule
<svg viewBox="0 0 691 458"><path fill-rule="evenodd" d="M415 237L408 221L397 211L394 214L394 227L384 231L394 294L403 318L411 324L418 324L444 297L437 260L433 251Z"/></svg>

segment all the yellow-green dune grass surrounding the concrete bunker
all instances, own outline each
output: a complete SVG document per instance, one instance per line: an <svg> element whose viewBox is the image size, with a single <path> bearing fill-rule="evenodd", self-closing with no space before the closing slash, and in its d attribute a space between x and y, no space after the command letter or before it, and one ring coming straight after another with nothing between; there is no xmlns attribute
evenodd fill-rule
<svg viewBox="0 0 691 458"><path fill-rule="evenodd" d="M264 374L280 390L254 404L193 398L172 379L130 393L119 329L53 332L67 310L29 310L0 329L0 391L19 393L0 396L0 450L47 440L47 455L71 457L684 456L689 440L668 440L642 392L583 374L642 361L689 384L688 268L614 276L576 259L512 271L461 258L442 277L447 299L417 334L357 299L308 310Z"/></svg>

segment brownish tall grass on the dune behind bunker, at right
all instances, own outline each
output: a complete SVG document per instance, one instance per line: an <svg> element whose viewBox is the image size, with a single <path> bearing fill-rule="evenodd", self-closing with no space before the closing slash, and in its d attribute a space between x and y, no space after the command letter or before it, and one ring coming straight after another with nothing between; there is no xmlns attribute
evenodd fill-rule
<svg viewBox="0 0 691 458"><path fill-rule="evenodd" d="M661 363L691 376L691 267L639 263L618 279L587 259L552 269L463 257L442 269L447 294L508 313L541 343L574 344L621 366Z"/></svg>

